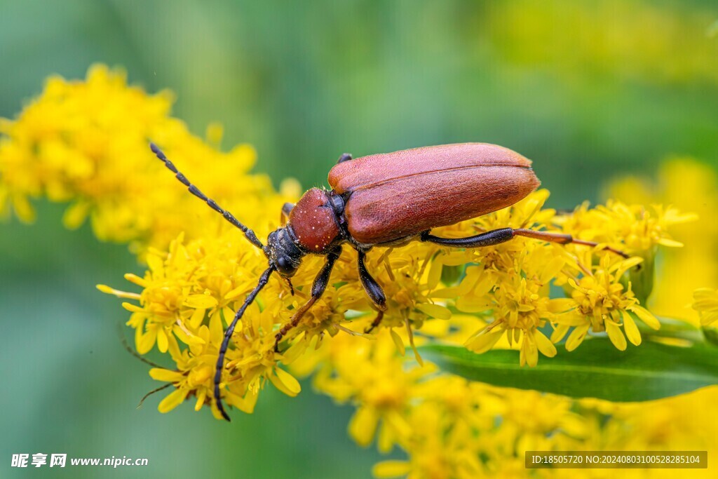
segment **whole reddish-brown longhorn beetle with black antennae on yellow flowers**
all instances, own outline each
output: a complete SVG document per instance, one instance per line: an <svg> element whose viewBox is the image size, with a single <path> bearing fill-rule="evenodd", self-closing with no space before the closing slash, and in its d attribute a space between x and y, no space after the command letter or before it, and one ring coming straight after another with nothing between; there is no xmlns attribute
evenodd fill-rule
<svg viewBox="0 0 718 479"><path fill-rule="evenodd" d="M494 144L447 144L357 159L342 154L329 172L332 189L312 188L296 205L286 203L282 208L283 225L269 233L266 245L232 213L192 185L157 145L150 144L150 148L193 195L239 228L250 243L261 248L269 262L256 287L237 310L220 347L214 396L217 408L228 421L230 418L220 398L220 381L225 353L237 322L274 271L289 281L291 287L290 279L307 254L325 256L326 261L314 278L309 300L276 332L276 351L287 332L296 327L312 304L322 297L345 243L358 252L360 282L378 311L365 332L376 328L386 311L386 295L365 266L366 253L374 246L401 246L410 241L425 241L441 246L479 248L510 241L516 236L598 246L593 241L579 240L563 233L525 228L499 228L466 238L432 235L432 228L506 208L536 190L540 182L531 168L531 161ZM608 246L605 249L628 257Z"/></svg>

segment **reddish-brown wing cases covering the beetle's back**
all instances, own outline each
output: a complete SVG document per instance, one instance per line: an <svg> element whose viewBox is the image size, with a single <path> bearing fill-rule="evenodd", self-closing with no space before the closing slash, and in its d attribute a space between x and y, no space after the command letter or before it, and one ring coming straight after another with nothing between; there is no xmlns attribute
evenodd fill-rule
<svg viewBox="0 0 718 479"><path fill-rule="evenodd" d="M513 205L538 187L531 162L485 143L373 154L335 165L329 184L350 193L349 232L388 243Z"/></svg>

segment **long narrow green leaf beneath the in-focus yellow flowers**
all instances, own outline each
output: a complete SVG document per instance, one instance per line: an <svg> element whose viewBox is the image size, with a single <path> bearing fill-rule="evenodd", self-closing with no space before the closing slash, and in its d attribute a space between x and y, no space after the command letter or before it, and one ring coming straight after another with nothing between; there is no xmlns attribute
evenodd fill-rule
<svg viewBox="0 0 718 479"><path fill-rule="evenodd" d="M519 366L518 351L475 354L461 346L427 345L421 355L447 373L494 386L533 389L574 398L649 401L718 384L718 348L646 341L619 351L608 340L584 340L572 353Z"/></svg>

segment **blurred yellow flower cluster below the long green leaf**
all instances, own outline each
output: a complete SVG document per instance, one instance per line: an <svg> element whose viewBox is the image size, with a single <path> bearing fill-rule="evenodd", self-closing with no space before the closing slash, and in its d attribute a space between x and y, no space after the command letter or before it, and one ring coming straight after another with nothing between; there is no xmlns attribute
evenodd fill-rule
<svg viewBox="0 0 718 479"><path fill-rule="evenodd" d="M445 323L425 327L436 329L434 322ZM373 343L337 336L318 353L310 368L298 369L319 364L315 389L356 406L351 437L362 446L376 442L383 453L406 452L406 460L375 465L378 478L576 477L570 469L526 470L528 450L709 450L709 461L718 460L718 418L711 412L718 388L640 404L575 401L439 375L401 361L386 334ZM710 470L681 472L712 477ZM622 470L622 477L645 473ZM605 478L605 470L582 470L581 477ZM673 478L675 471L651 470L650 477Z"/></svg>

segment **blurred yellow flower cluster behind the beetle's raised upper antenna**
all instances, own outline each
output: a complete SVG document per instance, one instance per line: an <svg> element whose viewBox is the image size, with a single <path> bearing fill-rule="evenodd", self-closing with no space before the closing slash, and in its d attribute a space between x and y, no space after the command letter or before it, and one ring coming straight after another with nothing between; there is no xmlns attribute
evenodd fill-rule
<svg viewBox="0 0 718 479"><path fill-rule="evenodd" d="M34 218L31 198L70 203L63 221L77 228L88 216L103 241L166 248L179 231L207 234L205 211L178 188L148 142L161 144L200 184L217 182L217 200L231 198L246 212L271 195L269 178L248 175L256 154L238 145L223 154L169 116L172 94L154 96L128 86L121 70L95 65L85 81L51 77L42 96L15 121L0 121L0 213ZM210 126L215 142L221 128ZM241 185L241 191L236 191ZM246 195L241 193L246 192Z"/></svg>

